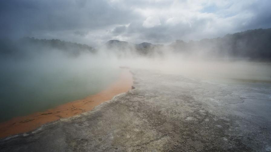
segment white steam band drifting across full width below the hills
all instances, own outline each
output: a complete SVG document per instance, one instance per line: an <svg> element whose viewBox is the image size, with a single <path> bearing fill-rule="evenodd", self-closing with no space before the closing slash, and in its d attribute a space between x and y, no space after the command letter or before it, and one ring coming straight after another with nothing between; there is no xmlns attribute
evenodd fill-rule
<svg viewBox="0 0 271 152"><path fill-rule="evenodd" d="M18 45L20 51L1 56L0 70L4 71L3 75L5 72L10 73L11 71L24 73L35 71L39 73L38 75L56 71L69 71L70 74L76 74L89 69L101 68L110 71L119 70L120 66L126 66L131 69L149 69L165 74L179 74L188 78L271 81L269 63L251 62L248 58L234 58L227 53L227 55L221 55L218 53L219 51L210 51L213 43L204 43L204 47L190 46L194 49L190 48L191 50L188 52L181 47L178 47L176 51L172 45L150 43L137 45L112 41L114 43L93 49L59 40L53 41L61 44L54 44L57 47L44 45L43 41L41 43L38 40L30 40L34 41L35 45L33 43ZM80 47L78 48L78 46ZM186 49L188 48L186 46Z"/></svg>

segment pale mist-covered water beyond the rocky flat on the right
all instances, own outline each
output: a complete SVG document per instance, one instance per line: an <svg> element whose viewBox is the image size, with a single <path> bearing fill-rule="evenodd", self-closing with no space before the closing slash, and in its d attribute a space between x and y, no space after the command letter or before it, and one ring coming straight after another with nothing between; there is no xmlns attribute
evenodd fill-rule
<svg viewBox="0 0 271 152"><path fill-rule="evenodd" d="M163 56L126 57L116 61L119 65L129 66L132 69L152 69L164 74L179 74L215 82L271 83L269 62L249 61L246 58L186 56L170 50L164 50L164 53Z"/></svg>

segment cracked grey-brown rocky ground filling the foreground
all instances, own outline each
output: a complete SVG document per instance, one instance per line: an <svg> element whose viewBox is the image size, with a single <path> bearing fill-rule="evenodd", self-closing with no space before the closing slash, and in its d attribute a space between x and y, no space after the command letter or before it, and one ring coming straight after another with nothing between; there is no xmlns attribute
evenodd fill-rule
<svg viewBox="0 0 271 152"><path fill-rule="evenodd" d="M133 71L92 111L0 140L0 151L271 151L271 85Z"/></svg>

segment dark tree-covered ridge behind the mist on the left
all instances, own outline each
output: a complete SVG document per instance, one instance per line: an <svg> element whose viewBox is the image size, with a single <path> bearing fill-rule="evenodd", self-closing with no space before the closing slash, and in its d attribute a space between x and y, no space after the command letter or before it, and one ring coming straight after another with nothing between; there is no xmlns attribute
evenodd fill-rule
<svg viewBox="0 0 271 152"><path fill-rule="evenodd" d="M83 52L95 53L96 50L86 44L72 43L57 39L35 39L24 37L19 40L0 39L0 54L8 56L28 56L58 50L68 56L78 56Z"/></svg>

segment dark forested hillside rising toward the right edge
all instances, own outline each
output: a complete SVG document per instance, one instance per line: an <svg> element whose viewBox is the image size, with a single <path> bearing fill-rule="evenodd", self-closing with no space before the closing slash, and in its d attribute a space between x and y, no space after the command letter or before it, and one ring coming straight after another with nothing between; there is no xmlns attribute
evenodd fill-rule
<svg viewBox="0 0 271 152"><path fill-rule="evenodd" d="M227 34L222 38L202 39L188 43L176 40L168 47L186 55L271 60L271 28L247 30Z"/></svg>

